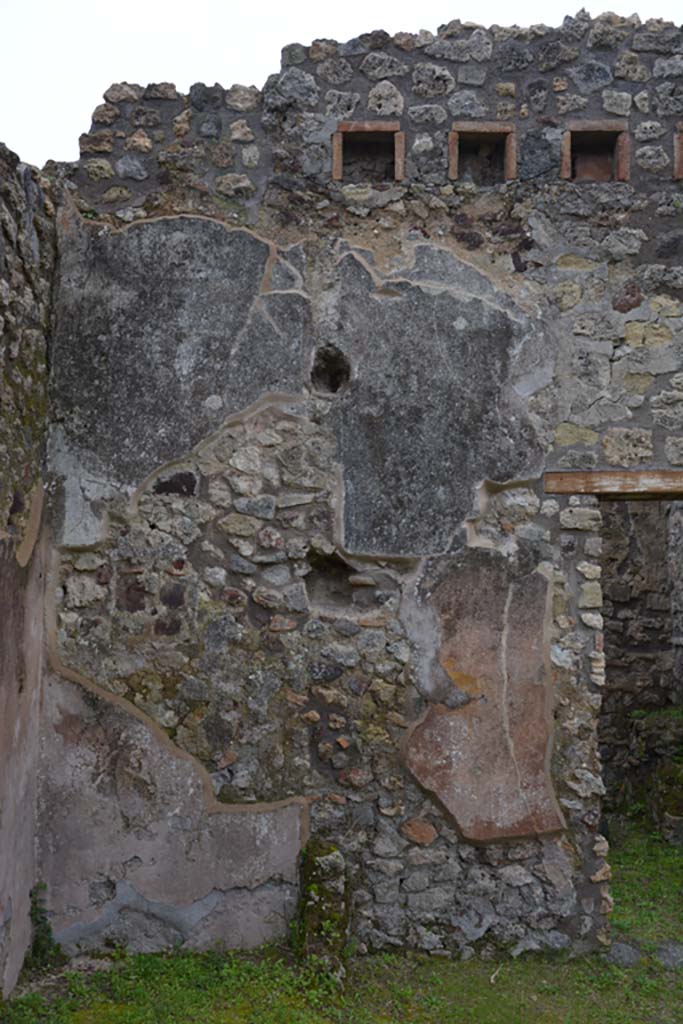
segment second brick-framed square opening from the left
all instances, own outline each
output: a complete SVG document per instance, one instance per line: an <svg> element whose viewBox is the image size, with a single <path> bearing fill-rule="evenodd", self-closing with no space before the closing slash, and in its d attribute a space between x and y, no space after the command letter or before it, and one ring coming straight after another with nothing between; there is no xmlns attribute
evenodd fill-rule
<svg viewBox="0 0 683 1024"><path fill-rule="evenodd" d="M475 185L496 185L517 176L512 125L456 122L449 134L449 177Z"/></svg>

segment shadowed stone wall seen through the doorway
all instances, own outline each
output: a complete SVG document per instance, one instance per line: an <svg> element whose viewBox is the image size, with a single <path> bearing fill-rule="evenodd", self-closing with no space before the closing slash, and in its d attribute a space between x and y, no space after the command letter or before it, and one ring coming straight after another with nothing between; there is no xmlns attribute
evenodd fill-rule
<svg viewBox="0 0 683 1024"><path fill-rule="evenodd" d="M680 503L605 502L606 809L652 810L656 776L683 750Z"/></svg>

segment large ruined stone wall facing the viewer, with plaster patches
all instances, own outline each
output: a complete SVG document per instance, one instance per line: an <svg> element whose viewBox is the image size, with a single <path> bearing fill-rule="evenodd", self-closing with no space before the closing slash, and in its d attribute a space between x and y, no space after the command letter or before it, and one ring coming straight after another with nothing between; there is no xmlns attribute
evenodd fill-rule
<svg viewBox="0 0 683 1024"><path fill-rule="evenodd" d="M113 86L51 168L70 948L280 936L309 835L361 948L607 941L602 511L544 472L683 464L682 54L318 40Z"/></svg>

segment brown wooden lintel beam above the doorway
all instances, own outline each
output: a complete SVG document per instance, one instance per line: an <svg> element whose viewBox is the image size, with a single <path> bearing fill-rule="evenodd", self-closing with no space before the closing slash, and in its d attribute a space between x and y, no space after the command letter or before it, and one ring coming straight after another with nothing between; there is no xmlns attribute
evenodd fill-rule
<svg viewBox="0 0 683 1024"><path fill-rule="evenodd" d="M683 495L680 469L606 469L544 475L547 495L613 495L665 498Z"/></svg>

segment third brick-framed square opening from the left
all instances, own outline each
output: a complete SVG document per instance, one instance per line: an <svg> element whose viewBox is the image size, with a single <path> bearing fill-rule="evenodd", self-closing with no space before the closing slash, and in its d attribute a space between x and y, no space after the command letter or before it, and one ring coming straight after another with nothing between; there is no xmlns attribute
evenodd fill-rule
<svg viewBox="0 0 683 1024"><path fill-rule="evenodd" d="M562 138L561 176L571 181L628 181L629 136L621 122L579 122Z"/></svg>

